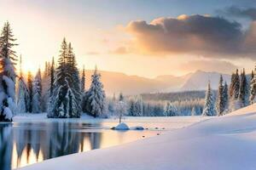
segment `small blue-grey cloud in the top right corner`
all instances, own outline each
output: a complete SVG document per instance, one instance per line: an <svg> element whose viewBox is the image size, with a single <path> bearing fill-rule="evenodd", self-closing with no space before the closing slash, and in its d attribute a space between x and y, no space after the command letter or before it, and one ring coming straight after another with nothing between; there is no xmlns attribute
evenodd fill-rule
<svg viewBox="0 0 256 170"><path fill-rule="evenodd" d="M218 13L256 20L256 8L238 8L236 6L231 6L224 10L218 10Z"/></svg>

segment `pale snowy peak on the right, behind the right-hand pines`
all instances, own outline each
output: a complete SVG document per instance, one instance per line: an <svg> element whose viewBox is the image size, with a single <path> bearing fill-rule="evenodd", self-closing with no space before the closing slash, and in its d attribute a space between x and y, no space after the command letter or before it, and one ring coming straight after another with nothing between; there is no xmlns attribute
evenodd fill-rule
<svg viewBox="0 0 256 170"><path fill-rule="evenodd" d="M218 72L206 72L206 71L195 71L189 79L184 82L181 91L190 90L205 90L208 81L211 81L211 86L213 89L218 88L220 73ZM230 84L230 75L223 74L224 81Z"/></svg>

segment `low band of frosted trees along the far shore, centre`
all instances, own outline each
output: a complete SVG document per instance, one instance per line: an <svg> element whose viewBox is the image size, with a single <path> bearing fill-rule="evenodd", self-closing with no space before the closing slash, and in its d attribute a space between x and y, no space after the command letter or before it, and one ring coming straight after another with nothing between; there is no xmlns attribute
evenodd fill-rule
<svg viewBox="0 0 256 170"><path fill-rule="evenodd" d="M122 96L122 94L120 94ZM129 96L122 99L125 102L126 116L191 116L201 115L204 107L204 99L183 100L144 100L142 95ZM115 105L119 99L108 99L109 115L119 115ZM191 112L193 111L193 113Z"/></svg>

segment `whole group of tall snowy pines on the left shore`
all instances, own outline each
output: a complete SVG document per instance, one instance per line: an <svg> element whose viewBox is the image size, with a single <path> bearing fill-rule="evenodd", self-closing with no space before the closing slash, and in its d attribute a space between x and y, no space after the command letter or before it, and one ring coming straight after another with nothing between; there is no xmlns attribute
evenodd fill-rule
<svg viewBox="0 0 256 170"><path fill-rule="evenodd" d="M30 71L25 76L21 55L17 74L15 65L19 59L13 50L15 41L6 22L0 37L0 122L12 121L16 113L25 112L47 112L49 118L78 118L83 111L91 116L106 114L101 75L96 69L86 91L84 70L80 76L71 42L64 38L57 64L53 58L45 63L43 72L38 69L33 77Z"/></svg>

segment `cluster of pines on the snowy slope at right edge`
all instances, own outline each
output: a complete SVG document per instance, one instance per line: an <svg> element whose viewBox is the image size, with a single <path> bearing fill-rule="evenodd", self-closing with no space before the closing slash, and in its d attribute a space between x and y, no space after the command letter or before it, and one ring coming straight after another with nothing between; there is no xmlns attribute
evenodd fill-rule
<svg viewBox="0 0 256 170"><path fill-rule="evenodd" d="M255 74L256 70L252 71L251 76L247 76L244 69L240 74L236 70L232 73L230 86L226 82L223 82L223 77L220 76L216 98L212 94L209 82L202 114L204 116L222 116L255 103Z"/></svg>

